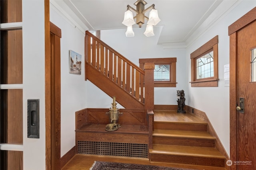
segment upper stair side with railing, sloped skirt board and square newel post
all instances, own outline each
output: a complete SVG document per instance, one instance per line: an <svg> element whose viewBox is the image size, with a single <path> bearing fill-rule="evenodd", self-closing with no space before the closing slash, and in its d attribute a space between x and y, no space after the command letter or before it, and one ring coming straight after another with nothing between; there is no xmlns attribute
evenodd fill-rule
<svg viewBox="0 0 256 170"><path fill-rule="evenodd" d="M145 63L142 70L89 31L85 36L85 80L110 97L116 96L125 108L154 107L154 63Z"/></svg>

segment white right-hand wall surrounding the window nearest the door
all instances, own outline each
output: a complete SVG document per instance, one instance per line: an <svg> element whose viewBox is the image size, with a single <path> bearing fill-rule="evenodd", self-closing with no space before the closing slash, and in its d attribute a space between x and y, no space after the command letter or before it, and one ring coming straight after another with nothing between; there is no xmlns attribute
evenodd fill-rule
<svg viewBox="0 0 256 170"><path fill-rule="evenodd" d="M191 87L188 84L188 106L206 112L226 152L230 154L230 114L229 114L229 87L224 83L224 65L229 64L229 36L228 26L249 12L256 6L256 1L244 0L232 11L225 14L204 32L196 41L190 42L186 52L187 80L191 81L190 53L204 45L207 41L218 35L218 87Z"/></svg>

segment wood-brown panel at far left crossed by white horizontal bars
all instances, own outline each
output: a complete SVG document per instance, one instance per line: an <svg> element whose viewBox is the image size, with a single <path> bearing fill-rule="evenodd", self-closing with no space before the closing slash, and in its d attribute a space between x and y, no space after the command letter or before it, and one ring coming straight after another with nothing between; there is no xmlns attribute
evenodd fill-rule
<svg viewBox="0 0 256 170"><path fill-rule="evenodd" d="M23 170L23 45L20 22L22 1L0 0L1 170Z"/></svg>

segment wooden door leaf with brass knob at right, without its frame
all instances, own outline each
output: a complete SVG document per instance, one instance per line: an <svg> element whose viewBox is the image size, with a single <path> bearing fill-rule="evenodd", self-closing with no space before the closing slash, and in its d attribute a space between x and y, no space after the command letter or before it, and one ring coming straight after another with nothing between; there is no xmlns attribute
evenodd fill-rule
<svg viewBox="0 0 256 170"><path fill-rule="evenodd" d="M237 113L237 154L238 161L248 161L246 165L238 162L239 170L256 169L256 80L252 80L252 70L256 68L251 63L256 57L253 55L256 51L255 28L256 22L238 31L237 101L238 109L240 104L244 104L244 108L243 113L241 110Z"/></svg>

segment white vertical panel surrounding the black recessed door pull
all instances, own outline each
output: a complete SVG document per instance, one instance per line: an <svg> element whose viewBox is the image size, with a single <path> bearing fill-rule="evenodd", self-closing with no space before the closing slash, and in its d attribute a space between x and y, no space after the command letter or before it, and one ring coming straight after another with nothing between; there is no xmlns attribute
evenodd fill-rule
<svg viewBox="0 0 256 170"><path fill-rule="evenodd" d="M44 0L22 1L23 169L45 169ZM27 137L27 100L40 100L40 139Z"/></svg>

